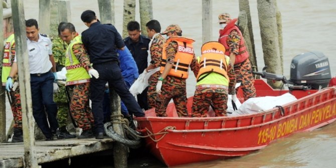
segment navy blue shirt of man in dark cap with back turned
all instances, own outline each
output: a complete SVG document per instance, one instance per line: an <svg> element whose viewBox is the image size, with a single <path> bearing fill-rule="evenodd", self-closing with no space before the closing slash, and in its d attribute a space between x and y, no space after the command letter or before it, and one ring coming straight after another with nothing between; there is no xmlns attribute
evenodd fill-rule
<svg viewBox="0 0 336 168"><path fill-rule="evenodd" d="M82 33L82 42L93 64L118 61L116 48L121 49L125 46L113 25L100 22L91 24L90 28Z"/></svg>

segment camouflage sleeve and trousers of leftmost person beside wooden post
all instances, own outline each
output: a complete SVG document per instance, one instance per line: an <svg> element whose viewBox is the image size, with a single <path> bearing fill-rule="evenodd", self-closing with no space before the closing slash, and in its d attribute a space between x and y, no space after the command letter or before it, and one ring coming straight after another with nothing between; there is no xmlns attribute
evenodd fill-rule
<svg viewBox="0 0 336 168"><path fill-rule="evenodd" d="M15 43L11 48L11 65L13 65L14 58L15 58ZM18 75L16 75L13 79L13 82L19 82ZM13 119L14 119L14 128L22 129L22 107L21 107L21 96L20 96L20 88L19 86L13 92L10 92L11 97L11 109L13 112Z"/></svg>

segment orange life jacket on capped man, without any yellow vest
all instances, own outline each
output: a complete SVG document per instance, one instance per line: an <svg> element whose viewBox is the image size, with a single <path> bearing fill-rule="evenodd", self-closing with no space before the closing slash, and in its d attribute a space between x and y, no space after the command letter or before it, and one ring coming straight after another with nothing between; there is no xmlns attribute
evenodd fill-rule
<svg viewBox="0 0 336 168"><path fill-rule="evenodd" d="M168 75L176 76L182 79L188 78L188 71L194 57L193 43L195 40L181 36L170 37L163 45L160 73L162 74L166 64L166 48L171 41L178 43L178 51L175 55L174 65Z"/></svg>

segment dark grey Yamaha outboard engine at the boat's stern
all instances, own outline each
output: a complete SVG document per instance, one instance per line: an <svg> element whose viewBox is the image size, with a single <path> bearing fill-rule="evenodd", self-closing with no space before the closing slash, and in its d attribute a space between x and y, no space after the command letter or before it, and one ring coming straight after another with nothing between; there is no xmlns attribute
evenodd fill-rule
<svg viewBox="0 0 336 168"><path fill-rule="evenodd" d="M306 52L292 59L289 81L294 84L293 89L321 89L328 86L330 79L329 61L321 52Z"/></svg>

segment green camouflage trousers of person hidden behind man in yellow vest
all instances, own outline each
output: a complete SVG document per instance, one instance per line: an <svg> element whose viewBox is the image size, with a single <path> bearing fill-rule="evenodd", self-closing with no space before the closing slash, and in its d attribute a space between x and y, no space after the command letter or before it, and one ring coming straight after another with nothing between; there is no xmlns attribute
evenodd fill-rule
<svg viewBox="0 0 336 168"><path fill-rule="evenodd" d="M68 100L65 93L65 86L60 86L60 91L54 94L54 101L57 104L57 122L59 127L67 126L68 116L69 116L69 107Z"/></svg>

